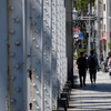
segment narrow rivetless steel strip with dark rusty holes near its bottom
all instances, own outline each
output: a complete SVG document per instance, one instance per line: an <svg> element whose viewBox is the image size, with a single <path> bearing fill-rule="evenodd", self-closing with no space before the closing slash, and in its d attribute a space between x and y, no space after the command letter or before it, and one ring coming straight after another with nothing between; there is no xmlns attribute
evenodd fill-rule
<svg viewBox="0 0 111 111"><path fill-rule="evenodd" d="M30 16L30 0L26 0L26 80L24 80L24 84L27 85L24 88L24 95L26 95L26 107L24 110L26 111L31 111L32 110L32 62L31 62L31 46L32 46L32 39L31 39L31 16Z"/></svg>

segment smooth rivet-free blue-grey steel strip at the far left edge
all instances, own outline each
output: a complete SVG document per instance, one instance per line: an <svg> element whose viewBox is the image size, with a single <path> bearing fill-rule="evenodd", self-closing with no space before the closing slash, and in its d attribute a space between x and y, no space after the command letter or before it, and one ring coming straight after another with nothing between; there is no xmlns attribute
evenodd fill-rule
<svg viewBox="0 0 111 111"><path fill-rule="evenodd" d="M9 110L9 70L8 70L8 33L7 0L0 1L0 111Z"/></svg>

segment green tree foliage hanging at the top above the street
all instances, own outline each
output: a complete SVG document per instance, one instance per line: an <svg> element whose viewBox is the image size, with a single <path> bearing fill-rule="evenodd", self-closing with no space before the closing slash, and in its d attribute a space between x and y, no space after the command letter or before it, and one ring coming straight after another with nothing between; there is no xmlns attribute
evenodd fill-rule
<svg viewBox="0 0 111 111"><path fill-rule="evenodd" d="M80 13L83 13L88 10L88 3L94 6L94 1L95 0L73 0L73 4Z"/></svg>

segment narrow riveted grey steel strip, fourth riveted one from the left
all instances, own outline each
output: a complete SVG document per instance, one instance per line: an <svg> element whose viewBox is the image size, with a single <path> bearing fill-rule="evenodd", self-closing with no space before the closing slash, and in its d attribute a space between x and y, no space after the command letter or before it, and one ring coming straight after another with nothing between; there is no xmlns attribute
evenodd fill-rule
<svg viewBox="0 0 111 111"><path fill-rule="evenodd" d="M52 109L57 109L57 49L56 49L56 36L57 36L57 26L56 26L56 0L52 0Z"/></svg>

